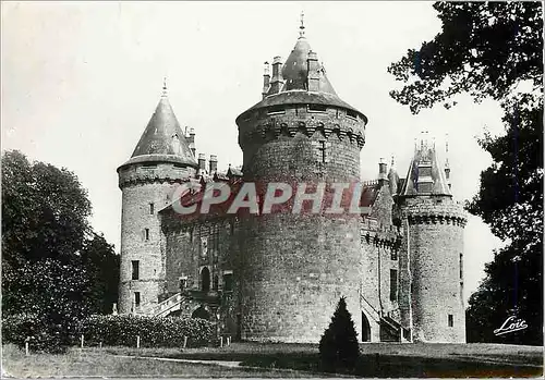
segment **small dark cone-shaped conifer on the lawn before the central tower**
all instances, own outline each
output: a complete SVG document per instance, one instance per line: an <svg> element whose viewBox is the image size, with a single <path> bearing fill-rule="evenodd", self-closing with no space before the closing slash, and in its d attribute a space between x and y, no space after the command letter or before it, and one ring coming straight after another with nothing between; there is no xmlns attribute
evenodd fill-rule
<svg viewBox="0 0 545 380"><path fill-rule="evenodd" d="M344 297L339 299L329 327L319 341L322 368L326 371L353 369L360 356L358 333Z"/></svg>

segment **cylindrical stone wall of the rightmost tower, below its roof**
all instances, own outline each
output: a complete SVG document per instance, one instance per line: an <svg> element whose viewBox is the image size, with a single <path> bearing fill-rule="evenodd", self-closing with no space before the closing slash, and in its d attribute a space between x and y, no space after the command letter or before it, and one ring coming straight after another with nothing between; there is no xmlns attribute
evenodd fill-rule
<svg viewBox="0 0 545 380"><path fill-rule="evenodd" d="M405 200L404 214L409 225L413 340L465 343L460 278L465 225L462 208L450 197L419 196Z"/></svg>

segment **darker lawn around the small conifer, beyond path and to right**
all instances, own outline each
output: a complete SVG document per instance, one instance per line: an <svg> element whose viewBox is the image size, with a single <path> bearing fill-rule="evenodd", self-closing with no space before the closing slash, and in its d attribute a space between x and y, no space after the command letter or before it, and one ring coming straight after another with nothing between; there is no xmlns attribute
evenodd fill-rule
<svg viewBox="0 0 545 380"><path fill-rule="evenodd" d="M106 348L122 355L235 360L242 366L317 372L316 344L233 343L222 348ZM501 344L363 344L359 377L538 377L543 350ZM349 375L349 373L346 373Z"/></svg>

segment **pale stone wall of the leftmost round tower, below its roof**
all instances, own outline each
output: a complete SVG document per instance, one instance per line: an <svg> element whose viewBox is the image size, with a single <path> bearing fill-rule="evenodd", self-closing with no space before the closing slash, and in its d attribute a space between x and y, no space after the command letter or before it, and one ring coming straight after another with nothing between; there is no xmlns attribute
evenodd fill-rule
<svg viewBox="0 0 545 380"><path fill-rule="evenodd" d="M174 168L172 163L134 164L120 170L119 311L122 314L144 311L156 305L159 295L165 293L166 242L157 212L170 201L175 182L184 181L190 173L191 169ZM153 210L150 204L154 205ZM138 280L132 280L133 260L140 261ZM140 307L134 305L135 292L140 293Z"/></svg>

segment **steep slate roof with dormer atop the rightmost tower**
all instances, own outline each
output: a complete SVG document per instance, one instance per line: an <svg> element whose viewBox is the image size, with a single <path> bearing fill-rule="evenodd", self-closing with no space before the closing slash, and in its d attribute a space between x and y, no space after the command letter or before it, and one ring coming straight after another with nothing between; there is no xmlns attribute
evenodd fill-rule
<svg viewBox="0 0 545 380"><path fill-rule="evenodd" d="M423 189L424 186L421 185L423 183L427 183L425 189ZM421 147L414 152L414 157L409 166L407 179L399 195L452 196L445 175L445 168L439 162L435 146L421 144Z"/></svg>

